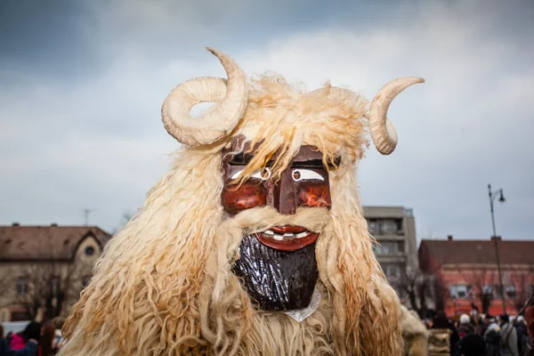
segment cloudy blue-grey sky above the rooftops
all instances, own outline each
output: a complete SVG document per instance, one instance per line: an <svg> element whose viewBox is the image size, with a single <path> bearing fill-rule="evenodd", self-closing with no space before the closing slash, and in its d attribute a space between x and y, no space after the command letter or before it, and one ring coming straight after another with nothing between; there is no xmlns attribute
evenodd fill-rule
<svg viewBox="0 0 534 356"><path fill-rule="evenodd" d="M400 136L370 147L364 205L414 209L419 239L533 239L534 2L75 0L0 2L0 224L113 231L142 205L178 144L159 116L191 77L247 73L371 99L418 76L389 111Z"/></svg>

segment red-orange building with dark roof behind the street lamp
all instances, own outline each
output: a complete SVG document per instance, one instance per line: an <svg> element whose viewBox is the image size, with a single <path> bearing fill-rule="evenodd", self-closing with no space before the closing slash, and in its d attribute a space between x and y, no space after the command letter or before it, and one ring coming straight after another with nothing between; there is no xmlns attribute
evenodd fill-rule
<svg viewBox="0 0 534 356"><path fill-rule="evenodd" d="M448 315L472 310L499 315L504 312L498 279L496 247L503 279L506 312L514 315L534 287L534 240L423 239L419 247L421 269L433 274L442 291L436 309ZM440 303L442 307L440 307Z"/></svg>

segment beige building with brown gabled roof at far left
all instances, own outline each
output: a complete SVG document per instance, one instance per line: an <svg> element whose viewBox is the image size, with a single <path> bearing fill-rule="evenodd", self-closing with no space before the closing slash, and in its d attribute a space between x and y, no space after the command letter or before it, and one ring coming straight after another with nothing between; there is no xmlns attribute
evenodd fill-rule
<svg viewBox="0 0 534 356"><path fill-rule="evenodd" d="M67 315L110 238L96 226L0 226L0 321Z"/></svg>

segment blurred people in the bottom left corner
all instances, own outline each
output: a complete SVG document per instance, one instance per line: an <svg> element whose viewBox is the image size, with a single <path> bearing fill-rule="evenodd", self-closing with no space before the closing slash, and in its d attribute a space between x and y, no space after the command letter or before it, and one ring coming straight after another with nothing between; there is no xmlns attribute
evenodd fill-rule
<svg viewBox="0 0 534 356"><path fill-rule="evenodd" d="M19 333L4 335L0 325L0 356L53 356L60 351L63 320L30 321Z"/></svg>

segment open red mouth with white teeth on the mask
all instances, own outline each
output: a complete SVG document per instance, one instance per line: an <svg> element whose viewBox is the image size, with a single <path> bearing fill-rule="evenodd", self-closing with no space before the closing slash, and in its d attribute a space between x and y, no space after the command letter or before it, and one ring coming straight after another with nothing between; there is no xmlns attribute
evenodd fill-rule
<svg viewBox="0 0 534 356"><path fill-rule="evenodd" d="M279 251L296 251L312 245L318 238L319 232L306 230L302 226L273 226L271 229L258 232L256 238L265 246Z"/></svg>

